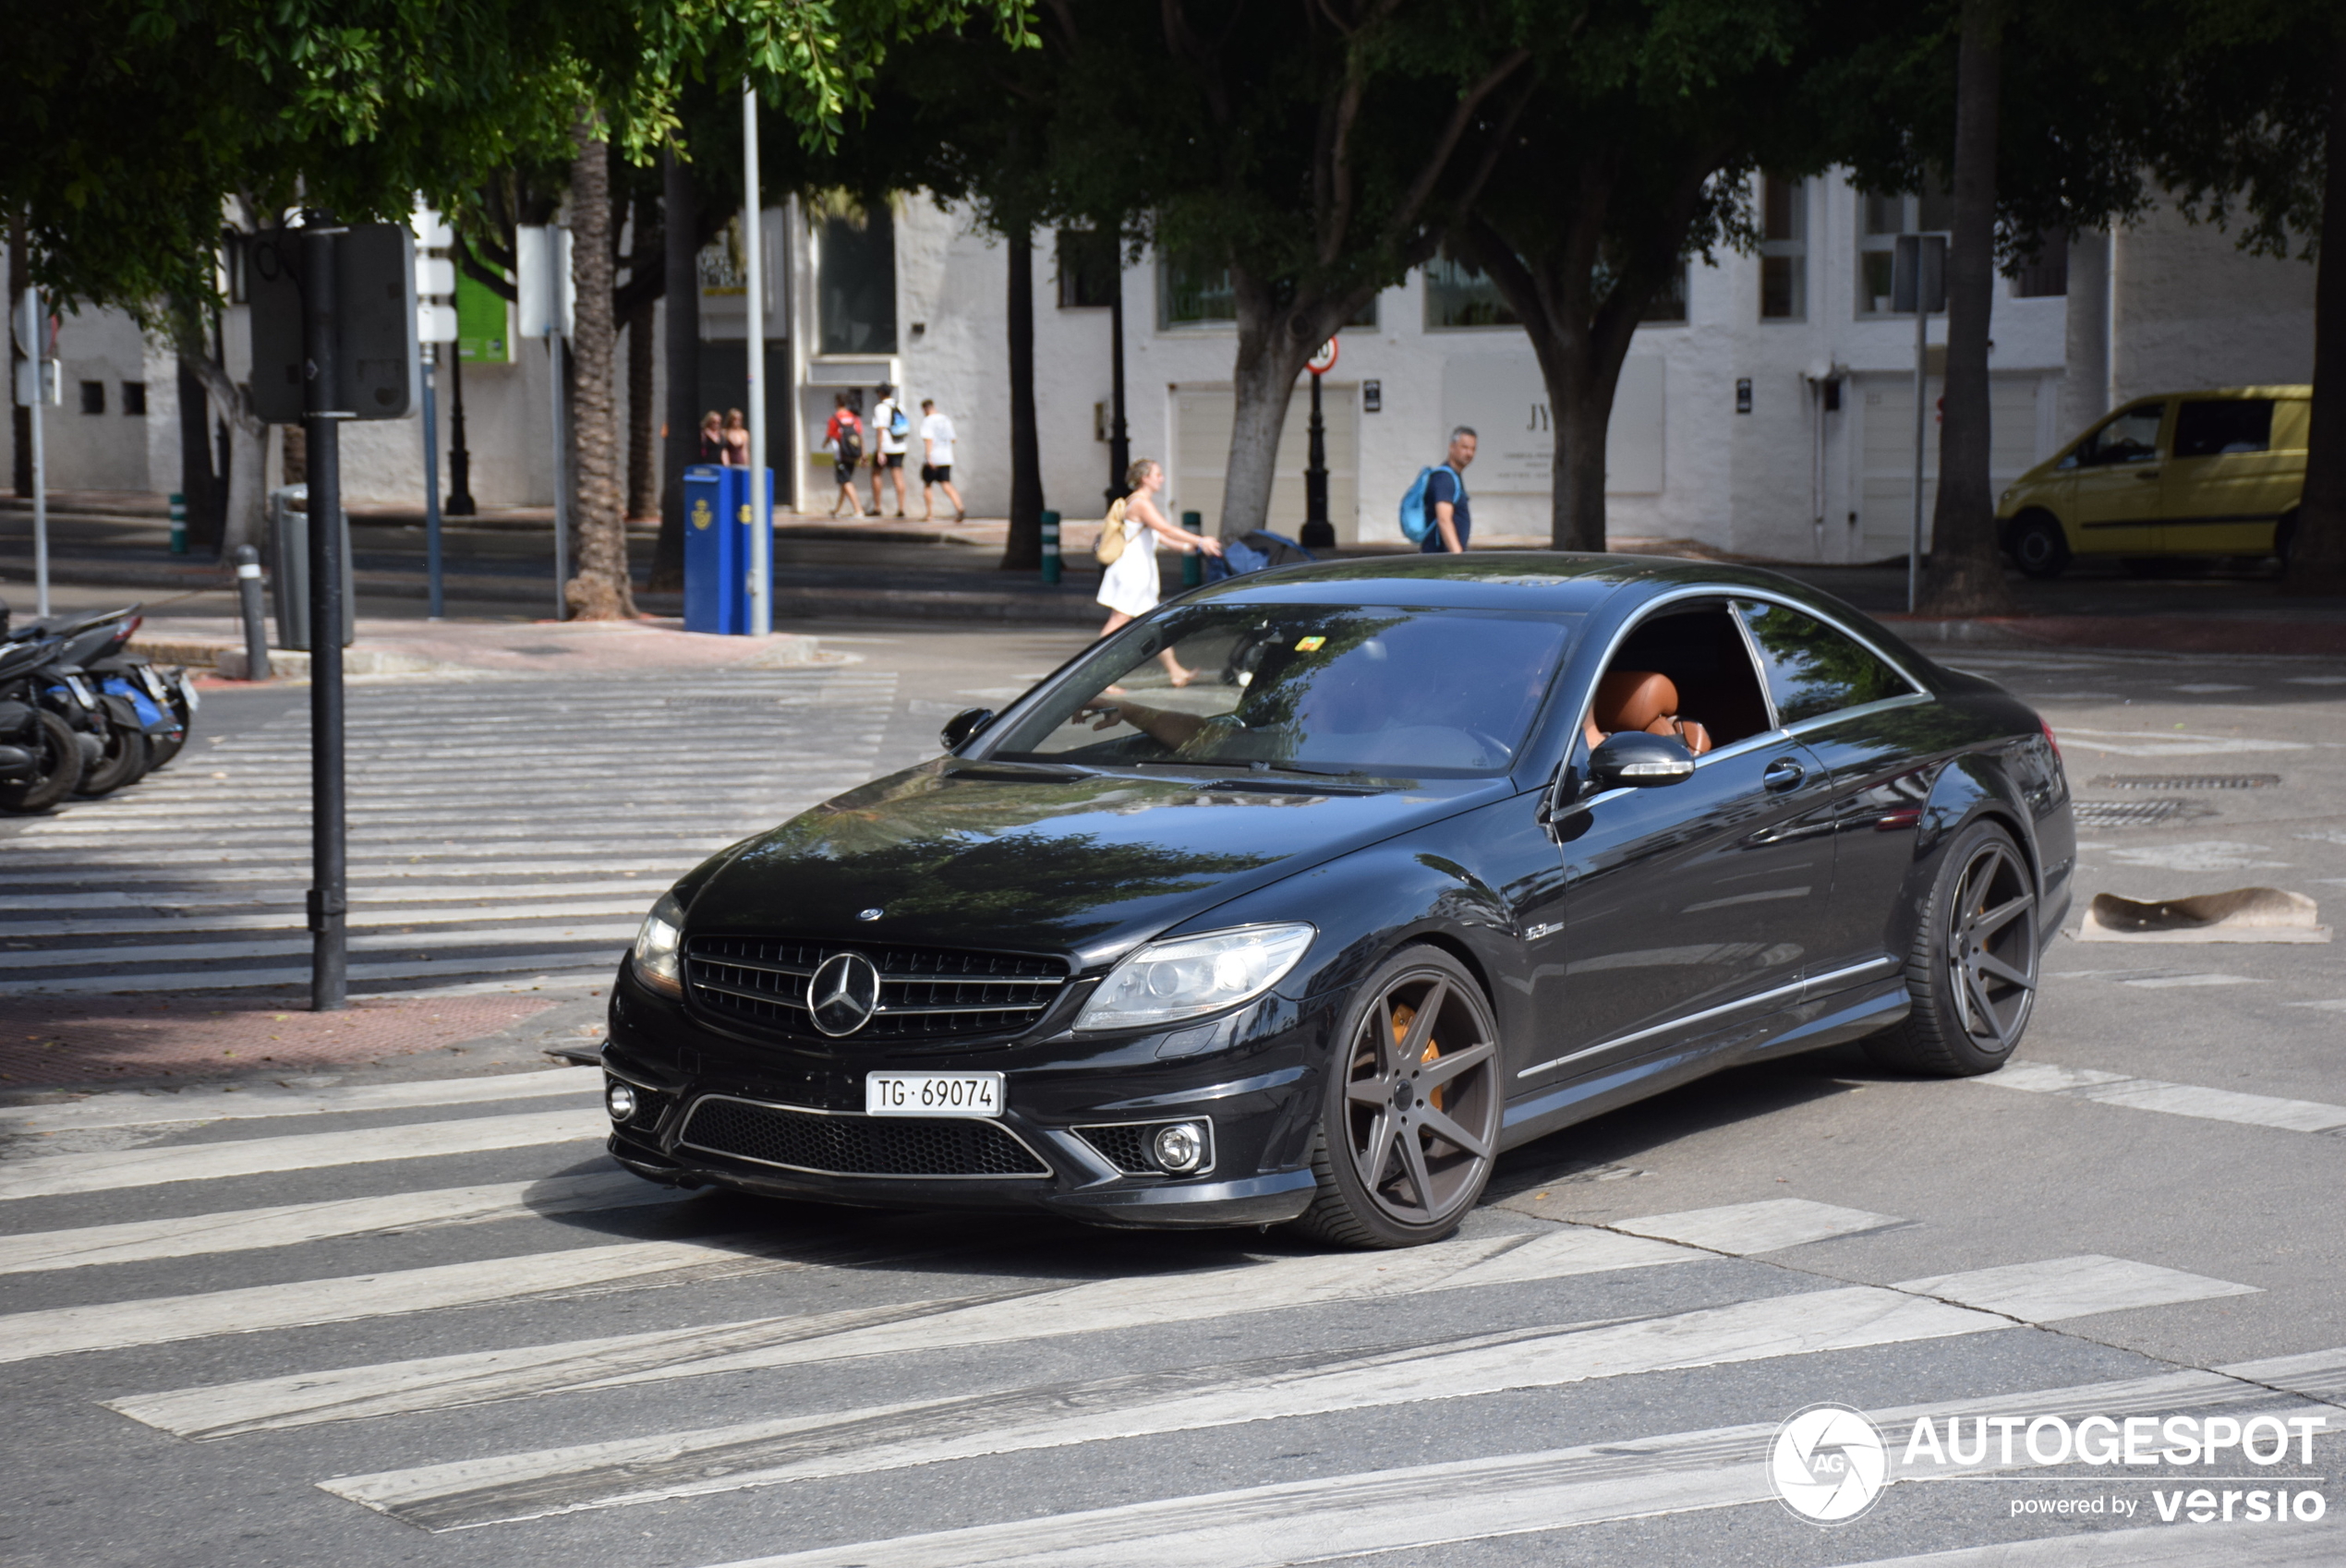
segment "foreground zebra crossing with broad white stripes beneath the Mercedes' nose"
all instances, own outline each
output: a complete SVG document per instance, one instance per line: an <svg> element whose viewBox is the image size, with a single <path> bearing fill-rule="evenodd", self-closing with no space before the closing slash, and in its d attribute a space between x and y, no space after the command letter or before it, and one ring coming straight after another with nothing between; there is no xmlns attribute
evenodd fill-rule
<svg viewBox="0 0 2346 1568"><path fill-rule="evenodd" d="M859 1214L615 1172L598 1088L544 1069L190 1097L167 1109L202 1120L176 1123L143 1095L0 1113L0 1362L45 1437L19 1430L0 1470L9 1554L124 1561L101 1521L35 1507L101 1472L190 1563L1274 1568L1508 1540L1525 1554L1490 1561L1548 1563L1598 1561L1572 1530L1736 1509L1762 1559L1783 1530L1863 1561L1816 1556L1762 1463L1842 1388L1884 1432L2346 1399L2346 1348L2203 1369L2064 1331L2255 1313L2250 1284L2022 1242L1863 1282L1816 1259L1931 1226L1820 1198L1605 1226L1485 1207L1398 1254ZM152 1141L40 1151L89 1127ZM1989 1491L1938 1481L2081 1479L1891 1455L1886 1512ZM2334 1439L2308 1455L2290 1474L2325 1474ZM256 1528L296 1545L249 1552ZM2308 1528L2198 1561L2313 1561L2287 1556Z"/></svg>

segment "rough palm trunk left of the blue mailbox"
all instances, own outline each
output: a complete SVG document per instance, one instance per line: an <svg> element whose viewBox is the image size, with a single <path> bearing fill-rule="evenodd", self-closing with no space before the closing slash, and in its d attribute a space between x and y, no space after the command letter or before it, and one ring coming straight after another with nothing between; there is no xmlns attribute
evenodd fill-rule
<svg viewBox="0 0 2346 1568"><path fill-rule="evenodd" d="M624 621L636 614L626 572L626 518L619 495L619 408L615 398L617 323L612 321L610 148L579 113L570 129L570 279L577 305L570 338L570 464L575 499L570 537L577 574L563 602L579 621Z"/></svg>

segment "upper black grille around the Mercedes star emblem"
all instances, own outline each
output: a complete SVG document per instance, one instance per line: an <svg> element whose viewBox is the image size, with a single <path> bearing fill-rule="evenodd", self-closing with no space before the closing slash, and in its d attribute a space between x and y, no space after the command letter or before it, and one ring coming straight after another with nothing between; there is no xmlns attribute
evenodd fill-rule
<svg viewBox="0 0 2346 1568"><path fill-rule="evenodd" d="M880 1010L849 1036L856 1041L1018 1034L1067 984L1067 963L1037 954L713 935L685 942L685 982L708 1013L814 1034L807 982L842 952L859 952L880 970Z"/></svg>

